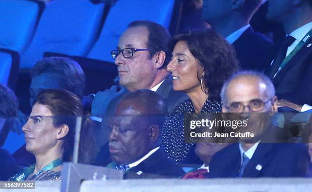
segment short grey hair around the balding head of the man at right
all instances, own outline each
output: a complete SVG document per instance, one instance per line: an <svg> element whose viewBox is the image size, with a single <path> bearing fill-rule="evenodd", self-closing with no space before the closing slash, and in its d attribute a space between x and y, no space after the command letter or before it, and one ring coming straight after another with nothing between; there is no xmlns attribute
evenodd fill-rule
<svg viewBox="0 0 312 192"><path fill-rule="evenodd" d="M258 78L263 83L265 83L265 85L267 86L267 97L268 98L272 98L272 97L275 96L275 88L274 88L274 85L273 85L273 83L272 83L272 81L270 80L269 77L267 77L263 73L259 73L259 72L256 72L256 71L244 70L244 71L239 71L239 72L233 74L223 84L223 87L222 87L221 93L220 93L221 101L222 101L223 104L227 103L226 90L227 90L228 84L232 80L238 79L238 78L243 77L243 76L249 76L249 77L256 77L256 78Z"/></svg>

